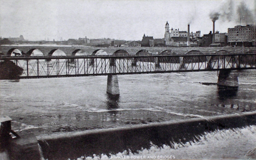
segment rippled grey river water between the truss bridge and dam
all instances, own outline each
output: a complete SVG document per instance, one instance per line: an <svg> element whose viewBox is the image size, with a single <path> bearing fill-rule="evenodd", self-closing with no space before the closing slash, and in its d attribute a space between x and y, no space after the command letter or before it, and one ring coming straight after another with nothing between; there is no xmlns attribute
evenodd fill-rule
<svg viewBox="0 0 256 160"><path fill-rule="evenodd" d="M215 85L217 72L118 75L117 100L106 94L107 76L1 80L1 115L14 131L42 138L255 111L256 70L234 72L239 87L228 92Z"/></svg>

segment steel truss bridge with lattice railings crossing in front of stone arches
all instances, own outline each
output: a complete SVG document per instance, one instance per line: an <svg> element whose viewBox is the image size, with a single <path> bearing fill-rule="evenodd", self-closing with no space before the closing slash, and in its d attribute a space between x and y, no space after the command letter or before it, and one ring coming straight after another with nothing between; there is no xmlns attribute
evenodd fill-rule
<svg viewBox="0 0 256 160"><path fill-rule="evenodd" d="M27 78L256 69L256 54L0 57Z"/></svg>

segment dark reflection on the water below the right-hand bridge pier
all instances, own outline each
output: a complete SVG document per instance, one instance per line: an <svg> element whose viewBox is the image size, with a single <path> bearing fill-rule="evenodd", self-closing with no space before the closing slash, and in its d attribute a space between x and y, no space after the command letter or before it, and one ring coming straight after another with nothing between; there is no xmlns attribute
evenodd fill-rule
<svg viewBox="0 0 256 160"><path fill-rule="evenodd" d="M218 86L218 98L220 100L230 99L236 96L238 87Z"/></svg>

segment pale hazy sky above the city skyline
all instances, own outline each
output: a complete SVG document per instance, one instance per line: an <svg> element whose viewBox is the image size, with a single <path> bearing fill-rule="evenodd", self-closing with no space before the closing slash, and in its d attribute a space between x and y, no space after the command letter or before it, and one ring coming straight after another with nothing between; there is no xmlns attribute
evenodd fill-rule
<svg viewBox="0 0 256 160"><path fill-rule="evenodd" d="M243 4L243 5L241 5ZM141 40L143 34L164 38L170 29L212 31L210 13L219 13L216 30L228 32L240 25L237 8L248 12L243 21L255 24L256 0L0 0L2 38L24 35L29 40L79 37ZM241 7L242 6L242 7ZM252 15L251 15L252 14ZM241 17L241 15L240 15Z"/></svg>

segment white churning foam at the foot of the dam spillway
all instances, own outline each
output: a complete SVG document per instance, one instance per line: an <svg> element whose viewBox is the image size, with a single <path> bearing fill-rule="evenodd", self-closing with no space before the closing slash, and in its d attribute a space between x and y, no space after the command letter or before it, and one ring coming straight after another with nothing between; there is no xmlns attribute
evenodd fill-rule
<svg viewBox="0 0 256 160"><path fill-rule="evenodd" d="M150 149L142 149L138 153L130 151L107 155L82 156L81 159L249 159L255 156L256 126L228 129L205 133L196 137L199 141L172 143L158 147L151 144ZM161 157L162 156L162 157ZM169 157L168 157L169 156ZM172 156L172 158L170 158Z"/></svg>

